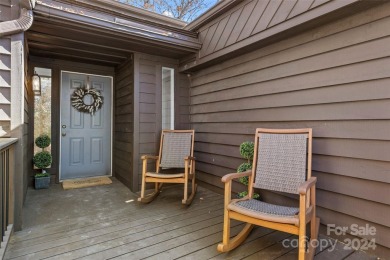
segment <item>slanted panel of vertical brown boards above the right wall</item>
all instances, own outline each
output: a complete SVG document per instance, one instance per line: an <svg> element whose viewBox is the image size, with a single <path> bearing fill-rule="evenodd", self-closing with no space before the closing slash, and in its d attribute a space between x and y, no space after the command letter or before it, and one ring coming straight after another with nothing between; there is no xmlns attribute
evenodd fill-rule
<svg viewBox="0 0 390 260"><path fill-rule="evenodd" d="M263 32L329 0L246 0L200 31L199 57Z"/></svg>

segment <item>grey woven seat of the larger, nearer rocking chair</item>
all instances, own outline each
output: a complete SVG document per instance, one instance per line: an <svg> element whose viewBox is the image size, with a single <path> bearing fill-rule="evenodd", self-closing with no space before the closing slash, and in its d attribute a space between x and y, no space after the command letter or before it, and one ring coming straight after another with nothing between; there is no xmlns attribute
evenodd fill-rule
<svg viewBox="0 0 390 260"><path fill-rule="evenodd" d="M255 199L247 199L232 200L228 209L258 219L294 225L299 224L297 215L299 213L299 208L295 207L279 206Z"/></svg>

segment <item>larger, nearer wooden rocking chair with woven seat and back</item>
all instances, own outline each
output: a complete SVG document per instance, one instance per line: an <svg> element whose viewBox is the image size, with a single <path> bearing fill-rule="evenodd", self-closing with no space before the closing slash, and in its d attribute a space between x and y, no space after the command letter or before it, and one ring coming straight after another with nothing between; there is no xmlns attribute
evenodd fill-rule
<svg viewBox="0 0 390 260"><path fill-rule="evenodd" d="M218 251L227 252L239 246L254 225L299 236L299 259L312 259L315 248L310 243L318 236L315 183L311 176L311 129L256 129L255 150L251 171L227 174L223 241ZM231 200L232 179L249 177L248 196ZM265 203L253 199L253 189L299 194L299 208ZM230 238L230 219L247 222L243 230ZM306 224L310 222L310 241L306 239ZM309 242L306 251L306 243Z"/></svg>

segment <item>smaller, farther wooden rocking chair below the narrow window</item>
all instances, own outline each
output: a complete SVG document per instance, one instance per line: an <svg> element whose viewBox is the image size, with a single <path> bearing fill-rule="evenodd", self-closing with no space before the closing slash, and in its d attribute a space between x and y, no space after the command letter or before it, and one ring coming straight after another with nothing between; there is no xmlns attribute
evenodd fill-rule
<svg viewBox="0 0 390 260"><path fill-rule="evenodd" d="M161 133L159 156L144 155L142 163L141 197L138 201L149 203L160 194L163 183L183 183L182 203L191 204L197 185L195 183L194 130L163 130ZM156 171L148 172L148 160L156 160ZM183 173L161 173L162 169L184 168ZM192 181L191 194L188 196L188 183ZM145 196L146 183L155 183L154 192Z"/></svg>

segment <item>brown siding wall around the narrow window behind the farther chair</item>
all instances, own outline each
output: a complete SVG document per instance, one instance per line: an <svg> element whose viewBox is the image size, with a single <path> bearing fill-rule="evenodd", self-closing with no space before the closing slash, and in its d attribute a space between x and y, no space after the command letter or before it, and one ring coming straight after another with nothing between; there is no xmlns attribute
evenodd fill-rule
<svg viewBox="0 0 390 260"><path fill-rule="evenodd" d="M135 107L138 113L134 115L136 128L134 140L134 180L141 187L142 161L144 154L158 154L161 132L161 82L162 67L175 69L175 129L189 129L189 79L187 75L178 73L178 60L146 54L135 54ZM152 167L154 163L151 163Z"/></svg>

